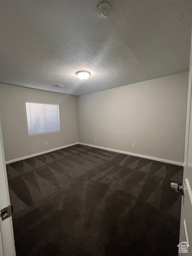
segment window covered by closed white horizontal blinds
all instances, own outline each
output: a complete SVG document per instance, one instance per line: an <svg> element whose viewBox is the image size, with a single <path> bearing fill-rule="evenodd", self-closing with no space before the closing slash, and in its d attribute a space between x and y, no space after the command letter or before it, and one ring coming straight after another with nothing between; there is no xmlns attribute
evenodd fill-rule
<svg viewBox="0 0 192 256"><path fill-rule="evenodd" d="M59 132L59 104L25 101L29 135Z"/></svg>

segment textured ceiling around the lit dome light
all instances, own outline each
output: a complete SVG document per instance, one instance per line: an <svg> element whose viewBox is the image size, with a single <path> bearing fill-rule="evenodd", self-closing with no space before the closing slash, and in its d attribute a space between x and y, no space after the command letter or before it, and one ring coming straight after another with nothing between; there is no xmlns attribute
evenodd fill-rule
<svg viewBox="0 0 192 256"><path fill-rule="evenodd" d="M82 95L189 69L191 1L110 0L107 19L99 2L2 1L0 82Z"/></svg>

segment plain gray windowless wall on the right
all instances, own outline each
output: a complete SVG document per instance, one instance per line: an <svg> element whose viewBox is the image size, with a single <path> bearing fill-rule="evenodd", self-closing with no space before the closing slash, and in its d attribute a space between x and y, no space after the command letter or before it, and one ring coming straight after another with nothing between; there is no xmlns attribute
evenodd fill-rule
<svg viewBox="0 0 192 256"><path fill-rule="evenodd" d="M188 76L184 72L79 96L79 142L183 162Z"/></svg>

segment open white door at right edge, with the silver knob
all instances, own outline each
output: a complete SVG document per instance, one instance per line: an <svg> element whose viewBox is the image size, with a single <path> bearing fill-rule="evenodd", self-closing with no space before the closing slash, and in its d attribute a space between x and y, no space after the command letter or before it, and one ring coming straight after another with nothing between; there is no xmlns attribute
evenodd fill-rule
<svg viewBox="0 0 192 256"><path fill-rule="evenodd" d="M185 160L184 160L184 196L182 198L181 208L181 227L180 227L180 243L187 242L187 253L179 253L179 255L186 254L192 256L192 43L190 53L190 68L189 68L189 89L188 89L188 103L187 103L187 126L185 139ZM179 192L178 192L179 193Z"/></svg>

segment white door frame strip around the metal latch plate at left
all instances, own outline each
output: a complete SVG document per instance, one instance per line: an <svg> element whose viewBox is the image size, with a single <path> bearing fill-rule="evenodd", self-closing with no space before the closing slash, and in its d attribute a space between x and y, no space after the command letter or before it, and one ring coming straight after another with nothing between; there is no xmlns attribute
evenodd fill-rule
<svg viewBox="0 0 192 256"><path fill-rule="evenodd" d="M10 205L9 189L7 182L7 172L5 166L5 157L2 141L2 130L0 120L0 210ZM0 255L15 256L15 244L13 236L12 217L5 219L0 218Z"/></svg>

